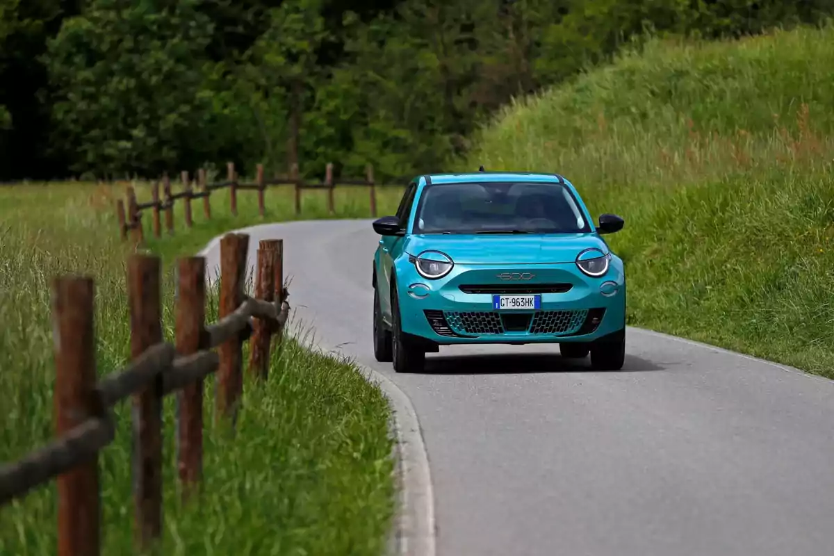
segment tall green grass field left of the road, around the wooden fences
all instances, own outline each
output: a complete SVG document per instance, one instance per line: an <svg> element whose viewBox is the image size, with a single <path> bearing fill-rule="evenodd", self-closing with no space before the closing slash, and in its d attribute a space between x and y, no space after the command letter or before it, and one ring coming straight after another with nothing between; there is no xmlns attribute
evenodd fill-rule
<svg viewBox="0 0 834 556"><path fill-rule="evenodd" d="M53 436L53 276L81 272L95 277L98 373L127 361L126 248L118 241L113 210L118 193L118 188L92 184L0 189L0 461L16 459ZM260 221L254 192L241 192L237 218L229 216L224 193L213 199L212 222L202 221L201 206L195 203L196 224L186 231L180 205L175 235L149 243L166 261L168 338L173 335L170 263L202 248L215 233ZM304 218L324 214L324 198L316 199L315 193L305 196ZM345 194L349 198L343 199ZM139 197L147 200L149 193L140 189ZM357 216L364 209L367 214L357 198L339 192L339 213ZM291 193L270 191L267 199L269 220L289 216ZM382 196L379 207L385 208ZM216 300L208 311L208 319L214 318ZM207 381L204 495L187 507L178 502L173 398L167 398L163 553L383 551L394 484L389 407L379 388L351 363L310 353L293 341L274 357L272 368L265 388L244 386L234 439L211 424L214 392ZM119 406L116 416L116 441L103 451L99 464L107 554L130 553L132 540L129 405ZM0 508L0 554L55 553L55 502L53 482Z"/></svg>

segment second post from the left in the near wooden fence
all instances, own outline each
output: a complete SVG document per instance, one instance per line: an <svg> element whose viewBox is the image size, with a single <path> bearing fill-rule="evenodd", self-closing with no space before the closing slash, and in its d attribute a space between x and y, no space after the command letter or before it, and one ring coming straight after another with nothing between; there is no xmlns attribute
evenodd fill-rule
<svg viewBox="0 0 834 556"><path fill-rule="evenodd" d="M158 257L128 260L130 355L138 358L162 341L162 307ZM133 395L134 533L140 550L162 533L162 373Z"/></svg>

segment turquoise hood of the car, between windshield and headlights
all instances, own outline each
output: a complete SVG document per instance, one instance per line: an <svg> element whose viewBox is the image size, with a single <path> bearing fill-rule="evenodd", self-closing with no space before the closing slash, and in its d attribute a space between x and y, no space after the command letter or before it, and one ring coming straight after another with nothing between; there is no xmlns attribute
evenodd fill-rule
<svg viewBox="0 0 834 556"><path fill-rule="evenodd" d="M418 234L405 239L404 251L419 255L426 249L442 251L460 264L573 263L587 248L608 253L595 233L443 235Z"/></svg>

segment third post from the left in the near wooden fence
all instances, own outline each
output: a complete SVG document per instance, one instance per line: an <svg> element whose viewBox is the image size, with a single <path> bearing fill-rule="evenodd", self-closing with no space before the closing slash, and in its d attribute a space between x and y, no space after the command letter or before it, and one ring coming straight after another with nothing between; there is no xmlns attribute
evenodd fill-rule
<svg viewBox="0 0 834 556"><path fill-rule="evenodd" d="M179 355L197 353L205 330L203 257L180 258L177 267L176 347ZM183 500L203 475L203 379L177 393L177 468Z"/></svg>

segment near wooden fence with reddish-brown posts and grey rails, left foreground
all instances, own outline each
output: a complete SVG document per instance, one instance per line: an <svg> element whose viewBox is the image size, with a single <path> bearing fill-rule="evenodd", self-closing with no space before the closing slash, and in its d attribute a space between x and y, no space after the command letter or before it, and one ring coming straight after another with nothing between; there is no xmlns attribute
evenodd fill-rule
<svg viewBox="0 0 834 556"><path fill-rule="evenodd" d="M217 372L215 414L234 426L243 390L244 342L249 341L249 372L266 378L271 344L279 347L289 314L284 243L259 243L254 298L244 288L248 249L246 234L221 239L219 321L208 326L205 259L178 260L173 345L163 342L160 259L131 256L131 361L98 382L93 279L68 276L53 282L56 438L0 467L0 504L57 478L60 556L101 552L98 451L113 442L114 405L132 398L135 544L144 549L162 530L163 396L177 395L178 480L188 498L202 475L203 379Z"/></svg>

